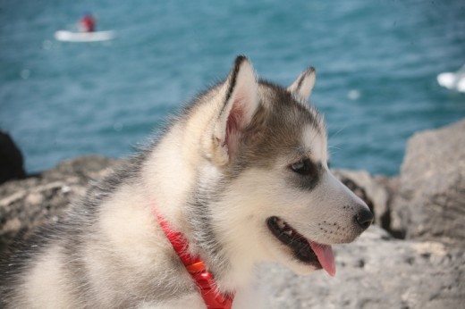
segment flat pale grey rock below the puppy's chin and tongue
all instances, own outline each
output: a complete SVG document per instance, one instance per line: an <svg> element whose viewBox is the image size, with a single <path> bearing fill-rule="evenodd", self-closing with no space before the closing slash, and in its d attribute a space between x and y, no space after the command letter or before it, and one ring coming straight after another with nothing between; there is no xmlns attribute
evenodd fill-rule
<svg viewBox="0 0 465 309"><path fill-rule="evenodd" d="M336 275L299 276L262 266L266 308L463 308L465 249L390 238L370 227L354 243L334 245Z"/></svg>

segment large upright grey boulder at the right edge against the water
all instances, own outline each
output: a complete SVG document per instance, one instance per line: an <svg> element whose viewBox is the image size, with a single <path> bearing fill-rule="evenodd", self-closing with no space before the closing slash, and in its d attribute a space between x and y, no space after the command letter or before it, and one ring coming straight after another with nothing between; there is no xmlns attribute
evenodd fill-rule
<svg viewBox="0 0 465 309"><path fill-rule="evenodd" d="M410 138L393 213L406 238L465 244L465 120Z"/></svg>

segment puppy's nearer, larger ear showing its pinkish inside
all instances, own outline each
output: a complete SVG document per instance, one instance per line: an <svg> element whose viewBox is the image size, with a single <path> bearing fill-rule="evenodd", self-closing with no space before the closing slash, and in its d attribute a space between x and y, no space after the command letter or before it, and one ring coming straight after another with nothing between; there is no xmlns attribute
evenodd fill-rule
<svg viewBox="0 0 465 309"><path fill-rule="evenodd" d="M224 83L224 105L213 132L217 163L228 163L258 109L258 81L249 59L238 56Z"/></svg>

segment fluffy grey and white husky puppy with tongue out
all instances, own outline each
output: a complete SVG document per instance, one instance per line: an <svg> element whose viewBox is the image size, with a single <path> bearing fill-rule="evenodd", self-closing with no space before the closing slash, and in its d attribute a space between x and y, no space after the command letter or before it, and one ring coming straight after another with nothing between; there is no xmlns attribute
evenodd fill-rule
<svg viewBox="0 0 465 309"><path fill-rule="evenodd" d="M247 287L262 261L334 275L332 245L357 238L373 214L328 169L325 123L308 104L314 83L313 68L289 88L258 80L237 57L224 82L5 264L0 304L206 308L162 222L218 295Z"/></svg>

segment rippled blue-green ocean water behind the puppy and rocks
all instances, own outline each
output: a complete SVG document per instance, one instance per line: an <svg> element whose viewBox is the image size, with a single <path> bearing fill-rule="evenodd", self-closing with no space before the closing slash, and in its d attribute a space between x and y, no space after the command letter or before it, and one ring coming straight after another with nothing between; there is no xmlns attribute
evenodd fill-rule
<svg viewBox="0 0 465 309"><path fill-rule="evenodd" d="M55 41L84 12L118 37ZM284 85L317 68L334 167L393 175L415 131L465 117L435 80L465 63L463 1L0 0L0 129L30 172L127 156L236 54Z"/></svg>

